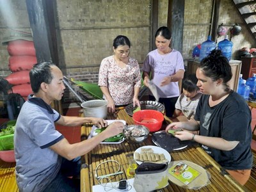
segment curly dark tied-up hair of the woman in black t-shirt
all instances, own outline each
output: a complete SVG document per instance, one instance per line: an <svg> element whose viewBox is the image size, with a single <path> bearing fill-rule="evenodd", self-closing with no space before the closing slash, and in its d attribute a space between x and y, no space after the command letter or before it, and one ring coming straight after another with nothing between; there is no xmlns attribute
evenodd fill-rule
<svg viewBox="0 0 256 192"><path fill-rule="evenodd" d="M212 81L222 79L223 85L226 86L225 91L228 92L230 90L227 83L232 78L232 70L228 63L228 59L223 56L220 50L212 50L209 56L200 62L199 68L204 75L210 77Z"/></svg>

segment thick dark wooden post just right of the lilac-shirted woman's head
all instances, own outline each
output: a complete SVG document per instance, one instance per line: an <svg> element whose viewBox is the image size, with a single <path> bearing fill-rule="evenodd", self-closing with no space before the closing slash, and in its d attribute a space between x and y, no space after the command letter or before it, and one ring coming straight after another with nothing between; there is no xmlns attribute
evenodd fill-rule
<svg viewBox="0 0 256 192"><path fill-rule="evenodd" d="M182 54L185 0L168 1L167 27L172 32L172 47Z"/></svg>

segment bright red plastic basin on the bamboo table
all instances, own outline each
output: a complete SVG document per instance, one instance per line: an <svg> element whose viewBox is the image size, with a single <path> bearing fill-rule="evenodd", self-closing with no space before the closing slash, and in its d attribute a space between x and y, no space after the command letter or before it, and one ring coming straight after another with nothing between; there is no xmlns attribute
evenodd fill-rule
<svg viewBox="0 0 256 192"><path fill-rule="evenodd" d="M150 132L159 131L162 127L164 116L163 113L152 110L145 109L141 111L137 111L132 115L132 119L134 124L136 125L144 125L148 127Z"/></svg>

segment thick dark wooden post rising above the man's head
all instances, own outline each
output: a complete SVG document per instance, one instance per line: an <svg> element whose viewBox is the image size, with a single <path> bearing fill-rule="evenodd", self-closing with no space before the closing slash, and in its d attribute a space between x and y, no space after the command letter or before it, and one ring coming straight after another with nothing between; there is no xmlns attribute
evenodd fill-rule
<svg viewBox="0 0 256 192"><path fill-rule="evenodd" d="M38 62L52 61L58 65L58 49L54 12L51 0L26 0L29 22Z"/></svg>

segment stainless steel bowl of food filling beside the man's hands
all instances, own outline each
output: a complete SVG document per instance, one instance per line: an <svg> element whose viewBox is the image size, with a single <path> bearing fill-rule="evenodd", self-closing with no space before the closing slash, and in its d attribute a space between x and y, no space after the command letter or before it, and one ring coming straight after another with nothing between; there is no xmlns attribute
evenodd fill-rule
<svg viewBox="0 0 256 192"><path fill-rule="evenodd" d="M124 127L125 139L130 143L141 143L147 139L149 130L143 125L128 125Z"/></svg>

